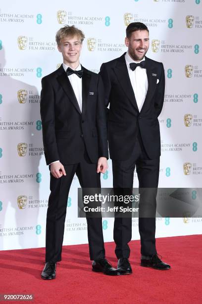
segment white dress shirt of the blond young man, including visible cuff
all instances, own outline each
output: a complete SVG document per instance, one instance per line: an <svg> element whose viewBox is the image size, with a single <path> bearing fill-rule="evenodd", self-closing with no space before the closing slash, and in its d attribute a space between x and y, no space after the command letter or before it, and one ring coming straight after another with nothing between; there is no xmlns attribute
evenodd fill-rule
<svg viewBox="0 0 202 304"><path fill-rule="evenodd" d="M71 67L65 65L64 63L62 64L62 66L63 66L63 69L64 69L65 72L67 71L67 68L72 69ZM76 69L72 69L72 70L75 70L75 71L81 70L81 64L79 64ZM78 77L76 74L72 74L72 75L68 76L68 78L69 78L71 86L74 90L74 94L75 94L76 99L78 101L79 108L82 112L82 78ZM55 160L51 163L58 162L58 161L59 160Z"/></svg>

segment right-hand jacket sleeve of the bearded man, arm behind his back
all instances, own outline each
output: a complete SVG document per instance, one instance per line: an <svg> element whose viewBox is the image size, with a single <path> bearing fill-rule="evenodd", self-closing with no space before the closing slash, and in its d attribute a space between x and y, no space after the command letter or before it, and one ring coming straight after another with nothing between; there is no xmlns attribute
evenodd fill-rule
<svg viewBox="0 0 202 304"><path fill-rule="evenodd" d="M156 110L156 116L158 117L160 115L160 112L163 107L163 101L164 101L164 92L165 92L165 72L163 68L163 64L161 63L161 74L160 79L157 84L155 96L154 96L154 107Z"/></svg>

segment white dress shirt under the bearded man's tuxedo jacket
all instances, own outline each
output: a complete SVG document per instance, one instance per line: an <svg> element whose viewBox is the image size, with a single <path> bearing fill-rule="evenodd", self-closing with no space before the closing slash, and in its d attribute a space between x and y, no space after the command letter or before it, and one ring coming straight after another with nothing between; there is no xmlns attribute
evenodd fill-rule
<svg viewBox="0 0 202 304"><path fill-rule="evenodd" d="M128 69L128 74L131 80L131 84L133 87L133 91L135 94L136 102L138 105L139 112L142 109L142 106L145 101L145 97L147 95L148 91L148 77L147 77L147 71L146 69L143 69L141 67L137 67L135 71L132 71L130 68L130 63L140 63L141 61L144 61L145 58L143 58L141 61L137 62L133 60L128 52L125 55L126 65Z"/></svg>

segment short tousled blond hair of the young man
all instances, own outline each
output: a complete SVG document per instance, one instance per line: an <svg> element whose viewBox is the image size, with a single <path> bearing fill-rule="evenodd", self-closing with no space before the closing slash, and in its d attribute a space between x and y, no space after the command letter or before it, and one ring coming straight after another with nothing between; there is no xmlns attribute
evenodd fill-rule
<svg viewBox="0 0 202 304"><path fill-rule="evenodd" d="M57 45L60 45L61 40L66 36L77 36L79 39L81 39L81 43L85 38L84 33L74 25L65 25L56 32L55 40Z"/></svg>

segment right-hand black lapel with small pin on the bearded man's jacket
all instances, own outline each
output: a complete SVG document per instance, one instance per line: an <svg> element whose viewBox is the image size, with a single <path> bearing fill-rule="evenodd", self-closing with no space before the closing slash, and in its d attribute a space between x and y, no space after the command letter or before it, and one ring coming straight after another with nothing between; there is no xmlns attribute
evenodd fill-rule
<svg viewBox="0 0 202 304"><path fill-rule="evenodd" d="M145 57L145 61L146 61L146 69L147 69L147 77L148 77L148 91L141 112L143 108L146 106L146 104L151 100L153 93L155 91L156 80L157 80L156 77L157 72L155 68L151 65L150 59Z"/></svg>

